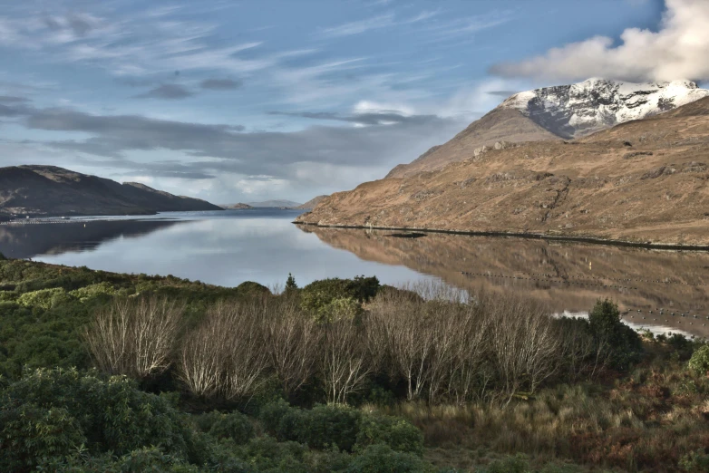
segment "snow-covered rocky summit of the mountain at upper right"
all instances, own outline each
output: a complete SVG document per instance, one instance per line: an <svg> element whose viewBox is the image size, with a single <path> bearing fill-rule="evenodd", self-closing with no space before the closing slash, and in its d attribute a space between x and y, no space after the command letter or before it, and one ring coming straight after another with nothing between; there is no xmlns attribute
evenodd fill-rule
<svg viewBox="0 0 709 473"><path fill-rule="evenodd" d="M707 96L708 90L699 89L691 81L632 83L588 79L520 92L498 108L519 110L542 128L570 139L644 119Z"/></svg>

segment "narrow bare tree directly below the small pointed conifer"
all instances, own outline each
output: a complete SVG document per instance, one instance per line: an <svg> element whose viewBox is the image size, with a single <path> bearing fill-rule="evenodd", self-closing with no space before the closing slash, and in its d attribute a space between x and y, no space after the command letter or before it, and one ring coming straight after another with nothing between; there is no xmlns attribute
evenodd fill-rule
<svg viewBox="0 0 709 473"><path fill-rule="evenodd" d="M292 300L267 304L263 323L264 349L289 396L315 374L321 333L313 319L301 314Z"/></svg>

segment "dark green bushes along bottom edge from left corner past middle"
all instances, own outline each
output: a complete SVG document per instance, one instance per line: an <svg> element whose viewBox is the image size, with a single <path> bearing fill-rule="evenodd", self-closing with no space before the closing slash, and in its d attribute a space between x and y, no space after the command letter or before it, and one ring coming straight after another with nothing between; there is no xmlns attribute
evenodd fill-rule
<svg viewBox="0 0 709 473"><path fill-rule="evenodd" d="M255 436L258 421L273 438ZM376 462L422 471L424 465L422 437L404 420L284 402L265 406L258 420L238 412L189 416L134 381L75 370L40 370L0 393L0 451L0 471L18 472L381 471L372 469Z"/></svg>

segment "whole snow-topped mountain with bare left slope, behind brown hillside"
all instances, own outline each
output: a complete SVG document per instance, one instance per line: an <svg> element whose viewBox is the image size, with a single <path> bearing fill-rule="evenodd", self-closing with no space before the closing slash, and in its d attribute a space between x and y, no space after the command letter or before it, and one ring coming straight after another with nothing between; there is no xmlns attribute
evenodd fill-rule
<svg viewBox="0 0 709 473"><path fill-rule="evenodd" d="M447 143L400 164L387 178L441 169L486 148L538 140L570 140L641 120L709 96L694 82L631 83L588 79L512 95ZM483 148L485 147L485 148Z"/></svg>

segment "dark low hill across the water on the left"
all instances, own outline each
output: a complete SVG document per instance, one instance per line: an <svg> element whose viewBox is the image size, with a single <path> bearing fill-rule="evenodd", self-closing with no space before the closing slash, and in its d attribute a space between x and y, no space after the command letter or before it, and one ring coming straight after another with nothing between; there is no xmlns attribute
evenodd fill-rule
<svg viewBox="0 0 709 473"><path fill-rule="evenodd" d="M0 215L142 215L221 210L199 198L173 196L137 182L120 184L55 166L0 168Z"/></svg>

